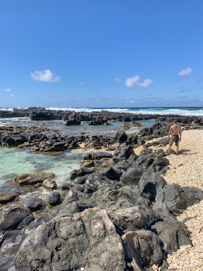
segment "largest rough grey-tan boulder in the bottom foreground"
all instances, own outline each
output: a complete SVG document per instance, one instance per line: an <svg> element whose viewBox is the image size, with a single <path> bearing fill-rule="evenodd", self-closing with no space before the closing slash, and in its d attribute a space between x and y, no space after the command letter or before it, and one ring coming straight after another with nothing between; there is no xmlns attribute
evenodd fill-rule
<svg viewBox="0 0 203 271"><path fill-rule="evenodd" d="M124 271L124 251L106 210L55 217L30 234L15 258L16 271Z"/></svg>

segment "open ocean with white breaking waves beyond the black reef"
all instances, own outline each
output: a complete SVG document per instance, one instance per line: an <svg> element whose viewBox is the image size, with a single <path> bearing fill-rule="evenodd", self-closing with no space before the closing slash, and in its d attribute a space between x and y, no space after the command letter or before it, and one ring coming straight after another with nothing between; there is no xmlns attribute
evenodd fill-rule
<svg viewBox="0 0 203 271"><path fill-rule="evenodd" d="M26 109L26 108L25 108ZM111 112L128 112L135 114L178 114L183 116L203 116L202 107L97 107L97 108L73 108L73 107L47 107L50 110L74 110L76 112L94 112L107 110ZM0 108L0 110L12 111L13 108Z"/></svg>

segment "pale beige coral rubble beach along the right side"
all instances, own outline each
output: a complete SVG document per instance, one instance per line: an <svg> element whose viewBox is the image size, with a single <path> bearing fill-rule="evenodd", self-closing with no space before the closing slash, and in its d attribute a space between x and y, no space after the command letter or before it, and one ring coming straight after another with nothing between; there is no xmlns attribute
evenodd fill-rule
<svg viewBox="0 0 203 271"><path fill-rule="evenodd" d="M156 141L153 139L149 142ZM150 147L153 150L159 149L160 146ZM143 147L134 149L136 154L139 154ZM168 149L162 147L164 151ZM175 145L172 149L176 150ZM203 130L188 130L182 132L182 140L179 144L180 149L189 149L187 155L167 156L170 161L170 169L166 176L163 176L169 183L177 183L180 186L193 186L203 190ZM180 164L183 164L180 166ZM193 218L194 216L197 216ZM190 218L185 224L192 232L191 246L181 246L178 251L174 251L172 255L168 255L169 269L176 270L198 270L203 271L203 200L199 204L195 204L187 208L187 210L177 217L177 220L183 221L185 218Z"/></svg>

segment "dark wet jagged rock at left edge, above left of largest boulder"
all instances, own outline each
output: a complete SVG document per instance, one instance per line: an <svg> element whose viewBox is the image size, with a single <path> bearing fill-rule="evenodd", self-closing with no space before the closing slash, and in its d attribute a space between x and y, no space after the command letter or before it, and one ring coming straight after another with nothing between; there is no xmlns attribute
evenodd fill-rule
<svg viewBox="0 0 203 271"><path fill-rule="evenodd" d="M0 220L0 230L11 231L23 229L35 220L34 216L19 207L6 210Z"/></svg>

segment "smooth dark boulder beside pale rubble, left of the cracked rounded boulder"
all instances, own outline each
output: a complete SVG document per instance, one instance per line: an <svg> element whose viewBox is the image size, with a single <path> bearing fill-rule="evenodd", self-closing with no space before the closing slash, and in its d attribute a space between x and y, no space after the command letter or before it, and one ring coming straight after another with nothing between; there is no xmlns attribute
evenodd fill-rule
<svg viewBox="0 0 203 271"><path fill-rule="evenodd" d="M138 188L141 195L149 200L155 199L157 193L164 188L166 181L154 172L145 172L140 178Z"/></svg>

